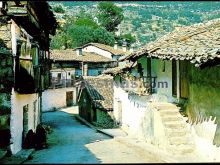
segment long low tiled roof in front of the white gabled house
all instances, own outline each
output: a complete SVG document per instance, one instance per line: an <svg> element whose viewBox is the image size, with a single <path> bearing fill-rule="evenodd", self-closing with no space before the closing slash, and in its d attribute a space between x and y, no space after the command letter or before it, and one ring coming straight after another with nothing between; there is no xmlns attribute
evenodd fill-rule
<svg viewBox="0 0 220 165"><path fill-rule="evenodd" d="M75 50L53 50L50 54L51 60L56 61L80 61L80 62L111 62L110 58L96 53L83 52L83 55L77 55Z"/></svg>

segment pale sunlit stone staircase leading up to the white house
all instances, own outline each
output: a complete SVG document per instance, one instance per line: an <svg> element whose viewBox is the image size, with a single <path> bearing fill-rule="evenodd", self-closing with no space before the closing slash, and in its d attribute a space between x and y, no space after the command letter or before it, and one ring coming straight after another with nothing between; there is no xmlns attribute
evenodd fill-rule
<svg viewBox="0 0 220 165"><path fill-rule="evenodd" d="M179 107L170 103L157 104L167 139L166 150L173 154L192 154L195 151L194 138L187 127Z"/></svg>

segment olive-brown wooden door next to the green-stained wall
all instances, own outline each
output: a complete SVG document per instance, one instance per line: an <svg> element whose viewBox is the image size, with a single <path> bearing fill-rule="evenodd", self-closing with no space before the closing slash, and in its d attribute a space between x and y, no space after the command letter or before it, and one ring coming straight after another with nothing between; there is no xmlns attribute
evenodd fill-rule
<svg viewBox="0 0 220 165"><path fill-rule="evenodd" d="M188 83L188 63L187 61L180 61L180 98L188 98L189 83Z"/></svg>

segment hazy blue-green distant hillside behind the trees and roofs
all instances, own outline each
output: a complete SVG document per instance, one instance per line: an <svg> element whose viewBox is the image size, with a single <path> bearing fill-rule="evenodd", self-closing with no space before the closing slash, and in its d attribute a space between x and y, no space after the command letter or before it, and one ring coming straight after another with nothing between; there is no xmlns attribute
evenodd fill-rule
<svg viewBox="0 0 220 165"><path fill-rule="evenodd" d="M80 10L96 14L97 1L50 2L51 6L62 4L65 14L75 16ZM124 21L119 33L132 33L136 36L137 46L142 46L172 31L177 26L191 25L220 18L220 2L217 1L115 1L124 10ZM57 14L59 19L63 15Z"/></svg>

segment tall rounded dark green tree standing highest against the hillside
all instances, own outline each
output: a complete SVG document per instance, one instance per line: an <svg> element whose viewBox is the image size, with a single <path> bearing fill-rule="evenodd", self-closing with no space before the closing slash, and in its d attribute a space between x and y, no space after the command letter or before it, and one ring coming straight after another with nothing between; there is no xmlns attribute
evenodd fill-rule
<svg viewBox="0 0 220 165"><path fill-rule="evenodd" d="M124 19L123 10L112 2L98 4L98 21L109 32L114 32Z"/></svg>

